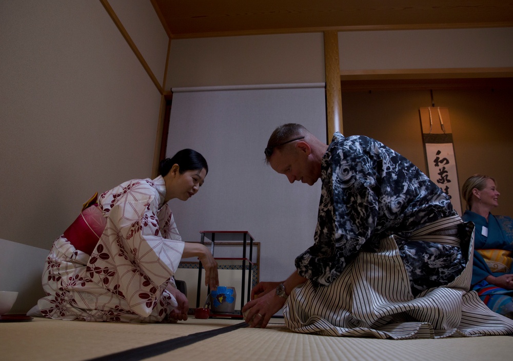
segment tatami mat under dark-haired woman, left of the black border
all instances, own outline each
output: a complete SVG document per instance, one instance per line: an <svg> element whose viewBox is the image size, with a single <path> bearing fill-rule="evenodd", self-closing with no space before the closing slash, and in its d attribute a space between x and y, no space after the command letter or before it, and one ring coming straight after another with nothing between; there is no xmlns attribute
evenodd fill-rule
<svg viewBox="0 0 513 361"><path fill-rule="evenodd" d="M189 318L180 324L50 320L0 323L0 360L85 360L241 321Z"/></svg>

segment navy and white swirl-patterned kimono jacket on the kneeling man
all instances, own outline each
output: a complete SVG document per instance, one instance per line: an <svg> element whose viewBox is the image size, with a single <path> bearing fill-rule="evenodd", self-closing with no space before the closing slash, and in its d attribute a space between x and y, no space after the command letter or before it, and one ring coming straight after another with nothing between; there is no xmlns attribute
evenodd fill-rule
<svg viewBox="0 0 513 361"><path fill-rule="evenodd" d="M457 215L440 187L381 142L336 133L322 160L314 245L295 266L315 286L329 285L361 250L396 238L413 294L454 280L466 264L460 247L408 241L413 230Z"/></svg>

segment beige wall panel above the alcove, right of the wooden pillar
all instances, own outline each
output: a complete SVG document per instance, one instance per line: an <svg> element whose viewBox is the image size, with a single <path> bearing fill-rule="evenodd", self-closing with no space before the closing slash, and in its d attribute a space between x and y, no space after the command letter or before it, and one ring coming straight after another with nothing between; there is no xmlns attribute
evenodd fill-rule
<svg viewBox="0 0 513 361"><path fill-rule="evenodd" d="M341 71L513 66L513 28L339 32Z"/></svg>

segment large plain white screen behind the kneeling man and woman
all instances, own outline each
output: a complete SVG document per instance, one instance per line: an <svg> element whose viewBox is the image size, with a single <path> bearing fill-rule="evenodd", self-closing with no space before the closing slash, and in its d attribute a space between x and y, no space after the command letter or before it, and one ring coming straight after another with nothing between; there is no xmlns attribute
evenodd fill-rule
<svg viewBox="0 0 513 361"><path fill-rule="evenodd" d="M261 243L261 281L294 271L317 224L320 181L290 184L264 162L272 131L289 122L326 139L324 83L173 89L167 157L193 148L209 166L198 194L170 202L176 225L192 242L201 230L249 231Z"/></svg>

